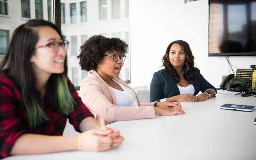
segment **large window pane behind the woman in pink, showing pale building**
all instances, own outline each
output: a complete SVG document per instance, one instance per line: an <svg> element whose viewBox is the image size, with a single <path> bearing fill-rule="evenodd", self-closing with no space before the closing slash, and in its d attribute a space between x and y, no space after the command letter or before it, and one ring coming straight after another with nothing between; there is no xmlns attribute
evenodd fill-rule
<svg viewBox="0 0 256 160"><path fill-rule="evenodd" d="M68 72L68 77L71 80L72 83L76 84L76 82L73 82L72 77L72 70L71 68L78 68L78 85L80 85L80 82L83 78L87 76L86 71L81 70L79 66L79 59L77 59L77 55L80 54L80 46L83 45L86 40L89 39L92 35L102 35L105 37L118 37L120 39L123 39L124 41L128 41L129 39L129 21L128 18L122 19L125 17L125 5L128 4L130 1L126 0L118 0L118 1L112 1L112 0L60 0L61 3L61 19L63 19L63 12L64 12L64 3L66 3L66 20L68 20L68 23L66 21L65 24L61 23L61 31L63 35L67 36L66 40L69 41L69 49L67 54L67 63L70 67L70 71ZM90 3L89 3L90 2ZM67 4L68 3L68 4ZM113 4L112 4L113 3ZM72 12L72 4L74 4L74 15L76 18L76 23L69 22L72 18L69 17L72 16L70 12ZM67 6L68 5L68 6ZM114 11L113 12L114 19L112 20L112 6ZM68 12L67 12L68 7ZM123 8L123 9L122 9ZM95 14L90 14L90 9L96 9ZM119 13L120 10L120 13ZM76 12L77 13L76 13ZM97 13L96 13L97 12ZM120 16L119 16L120 14ZM127 13L127 16L129 17L129 14ZM119 17L119 18L118 18ZM100 21L102 20L102 21ZM106 20L109 20L105 22ZM63 22L63 21L62 21ZM88 22L88 23L86 23ZM126 33L127 32L127 33ZM90 33L90 34L89 34ZM91 35L92 34L92 35ZM128 44L129 45L129 44ZM130 46L129 46L130 47ZM128 49L129 51L129 49ZM126 82L129 82L130 80L130 56L129 53L126 54L126 59L124 61L124 68L122 68L122 71L120 73L120 78L123 79Z"/></svg>

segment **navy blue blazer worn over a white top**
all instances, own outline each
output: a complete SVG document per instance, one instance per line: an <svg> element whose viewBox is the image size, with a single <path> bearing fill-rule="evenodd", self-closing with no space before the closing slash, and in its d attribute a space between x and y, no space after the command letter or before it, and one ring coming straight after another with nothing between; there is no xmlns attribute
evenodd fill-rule
<svg viewBox="0 0 256 160"><path fill-rule="evenodd" d="M198 68L195 68L195 72L196 82L193 84L195 88L194 95L198 94L199 91L205 92L210 88L214 89L217 93L216 88L204 79ZM169 98L176 95L180 95L180 90L174 81L173 76L167 75L165 69L155 72L150 84L150 101L160 101L163 98Z"/></svg>

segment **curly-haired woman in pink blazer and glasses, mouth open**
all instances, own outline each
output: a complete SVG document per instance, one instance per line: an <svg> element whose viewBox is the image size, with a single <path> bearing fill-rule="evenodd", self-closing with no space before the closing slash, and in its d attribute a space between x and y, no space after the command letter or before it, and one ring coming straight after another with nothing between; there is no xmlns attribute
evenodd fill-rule
<svg viewBox="0 0 256 160"><path fill-rule="evenodd" d="M127 47L119 38L99 35L90 37L80 48L79 64L90 72L81 82L79 95L98 122L184 114L179 102L140 103L132 88L119 78Z"/></svg>

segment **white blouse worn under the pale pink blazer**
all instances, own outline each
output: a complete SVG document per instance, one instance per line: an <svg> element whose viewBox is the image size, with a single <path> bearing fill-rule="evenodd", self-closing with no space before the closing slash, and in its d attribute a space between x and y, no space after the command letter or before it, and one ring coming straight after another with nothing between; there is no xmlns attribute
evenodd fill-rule
<svg viewBox="0 0 256 160"><path fill-rule="evenodd" d="M117 106L118 107L122 107L122 106L139 107L136 94L134 93L134 91L130 88L125 87L123 84L119 82L116 82L116 83L124 90L124 91L119 91L111 87L116 97Z"/></svg>

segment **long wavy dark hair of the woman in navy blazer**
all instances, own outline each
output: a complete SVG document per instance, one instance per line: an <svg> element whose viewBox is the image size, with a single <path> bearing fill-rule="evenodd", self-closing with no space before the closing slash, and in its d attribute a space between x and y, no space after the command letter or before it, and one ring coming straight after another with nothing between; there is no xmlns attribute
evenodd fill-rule
<svg viewBox="0 0 256 160"><path fill-rule="evenodd" d="M165 67L165 72L167 75L173 76L176 83L180 82L180 76L176 69L173 68L169 59L169 52L172 44L180 44L180 47L185 51L186 59L183 65L184 78L189 84L194 84L196 82L195 69L194 69L194 56L192 55L191 49L187 42L182 40L173 41L170 43L166 49L164 57L162 58L163 66Z"/></svg>

